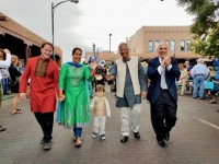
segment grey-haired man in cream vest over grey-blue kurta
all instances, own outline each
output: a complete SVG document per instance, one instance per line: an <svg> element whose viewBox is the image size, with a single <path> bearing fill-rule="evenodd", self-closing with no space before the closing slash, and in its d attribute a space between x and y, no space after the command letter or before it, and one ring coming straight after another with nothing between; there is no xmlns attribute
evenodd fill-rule
<svg viewBox="0 0 219 164"><path fill-rule="evenodd" d="M122 58L117 59L106 80L116 78L116 107L120 109L122 139L125 143L129 137L129 120L131 131L136 139L140 139L139 120L141 112L141 98L147 96L146 75L140 60L129 55L126 43L118 45ZM129 117L130 114L130 117Z"/></svg>

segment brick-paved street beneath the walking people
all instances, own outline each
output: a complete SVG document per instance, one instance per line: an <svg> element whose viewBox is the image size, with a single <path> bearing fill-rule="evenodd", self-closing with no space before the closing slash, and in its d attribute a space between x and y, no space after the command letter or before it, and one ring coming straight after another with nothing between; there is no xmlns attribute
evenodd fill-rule
<svg viewBox="0 0 219 164"><path fill-rule="evenodd" d="M42 131L30 112L28 99L20 102L23 114L11 115L11 99L0 108L0 124L7 131L0 132L0 164L218 164L219 130L198 119L219 126L217 104L209 99L193 99L181 96L177 124L171 131L166 148L158 145L150 122L149 104L142 103L140 121L141 139L132 134L127 143L119 142L119 112L114 107L114 93L106 93L112 107L107 119L106 140L93 139L92 124L83 129L83 144L76 148L72 130L55 124L53 149L44 151L39 144ZM91 118L93 114L91 113Z"/></svg>

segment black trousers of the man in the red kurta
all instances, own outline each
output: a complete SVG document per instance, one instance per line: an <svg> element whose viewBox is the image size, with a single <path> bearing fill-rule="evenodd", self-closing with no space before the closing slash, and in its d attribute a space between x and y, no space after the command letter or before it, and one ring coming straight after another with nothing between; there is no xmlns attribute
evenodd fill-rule
<svg viewBox="0 0 219 164"><path fill-rule="evenodd" d="M53 127L54 127L54 113L34 113L36 120L42 127L44 133L44 140L50 141L53 139Z"/></svg>

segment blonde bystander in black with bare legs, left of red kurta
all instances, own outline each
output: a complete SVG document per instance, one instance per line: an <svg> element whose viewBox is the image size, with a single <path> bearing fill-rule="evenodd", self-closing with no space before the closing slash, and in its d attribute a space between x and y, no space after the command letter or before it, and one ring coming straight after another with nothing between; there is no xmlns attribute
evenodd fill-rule
<svg viewBox="0 0 219 164"><path fill-rule="evenodd" d="M18 108L18 101L19 101L19 87L20 87L20 77L21 71L16 68L16 65L19 62L19 57L12 55L11 56L11 66L9 67L9 73L10 73L10 82L9 85L11 86L11 93L14 94L13 103L12 103L12 115L15 114L22 114L22 110Z"/></svg>

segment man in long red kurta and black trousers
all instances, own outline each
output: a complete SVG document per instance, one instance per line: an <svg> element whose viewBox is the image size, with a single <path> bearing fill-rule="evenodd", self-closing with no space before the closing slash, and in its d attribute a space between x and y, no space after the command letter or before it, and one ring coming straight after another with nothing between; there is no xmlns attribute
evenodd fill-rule
<svg viewBox="0 0 219 164"><path fill-rule="evenodd" d="M31 110L43 130L44 137L41 143L44 144L45 150L51 149L56 93L59 92L58 66L50 59L53 50L54 46L50 43L41 46L41 56L28 59L20 85L20 97L24 99L31 77Z"/></svg>

